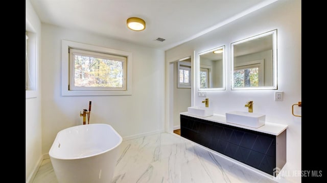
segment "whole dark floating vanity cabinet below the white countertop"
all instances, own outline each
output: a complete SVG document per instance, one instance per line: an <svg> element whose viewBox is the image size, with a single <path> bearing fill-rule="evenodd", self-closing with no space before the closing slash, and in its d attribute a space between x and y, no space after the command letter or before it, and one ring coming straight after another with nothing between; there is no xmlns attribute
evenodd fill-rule
<svg viewBox="0 0 327 183"><path fill-rule="evenodd" d="M275 136L185 115L180 128L181 137L273 176L286 163L286 130Z"/></svg>

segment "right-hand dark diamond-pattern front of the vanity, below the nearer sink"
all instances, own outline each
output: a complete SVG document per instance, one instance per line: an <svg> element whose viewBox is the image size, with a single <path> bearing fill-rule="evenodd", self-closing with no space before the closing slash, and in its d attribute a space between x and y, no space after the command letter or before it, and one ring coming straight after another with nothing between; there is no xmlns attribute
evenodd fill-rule
<svg viewBox="0 0 327 183"><path fill-rule="evenodd" d="M272 175L275 136L235 126L214 124L213 150Z"/></svg>

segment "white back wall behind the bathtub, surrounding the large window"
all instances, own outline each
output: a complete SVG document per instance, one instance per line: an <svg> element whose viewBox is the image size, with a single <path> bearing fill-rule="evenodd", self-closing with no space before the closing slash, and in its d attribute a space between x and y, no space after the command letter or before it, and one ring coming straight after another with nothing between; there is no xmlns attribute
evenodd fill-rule
<svg viewBox="0 0 327 183"><path fill-rule="evenodd" d="M62 39L131 52L132 95L61 96ZM60 130L82 124L80 111L88 109L89 101L90 123L110 124L124 139L164 130L164 51L42 24L41 58L43 153Z"/></svg>

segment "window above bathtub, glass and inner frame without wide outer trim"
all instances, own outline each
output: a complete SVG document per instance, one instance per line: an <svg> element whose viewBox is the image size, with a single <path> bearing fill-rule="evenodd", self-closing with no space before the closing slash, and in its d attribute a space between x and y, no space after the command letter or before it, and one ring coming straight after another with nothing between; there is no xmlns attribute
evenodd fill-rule
<svg viewBox="0 0 327 183"><path fill-rule="evenodd" d="M69 48L69 90L126 90L126 57Z"/></svg>

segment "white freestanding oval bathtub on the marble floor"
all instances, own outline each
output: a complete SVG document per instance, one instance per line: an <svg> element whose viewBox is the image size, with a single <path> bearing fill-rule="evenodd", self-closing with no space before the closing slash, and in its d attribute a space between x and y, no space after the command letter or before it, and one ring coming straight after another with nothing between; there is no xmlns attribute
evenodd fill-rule
<svg viewBox="0 0 327 183"><path fill-rule="evenodd" d="M111 182L122 141L108 124L61 130L49 151L58 182Z"/></svg>

